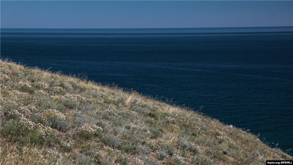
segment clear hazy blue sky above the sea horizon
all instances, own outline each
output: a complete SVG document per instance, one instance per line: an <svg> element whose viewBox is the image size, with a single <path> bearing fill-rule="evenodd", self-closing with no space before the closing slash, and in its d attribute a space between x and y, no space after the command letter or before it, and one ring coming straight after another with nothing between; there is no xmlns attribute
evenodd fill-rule
<svg viewBox="0 0 293 165"><path fill-rule="evenodd" d="M0 0L0 28L293 26L293 0Z"/></svg>

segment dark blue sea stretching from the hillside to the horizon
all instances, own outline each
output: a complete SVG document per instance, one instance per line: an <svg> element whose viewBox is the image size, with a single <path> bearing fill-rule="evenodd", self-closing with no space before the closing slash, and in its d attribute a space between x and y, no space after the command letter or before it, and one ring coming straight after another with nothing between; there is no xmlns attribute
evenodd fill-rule
<svg viewBox="0 0 293 165"><path fill-rule="evenodd" d="M203 106L293 149L293 27L0 29L0 57Z"/></svg>

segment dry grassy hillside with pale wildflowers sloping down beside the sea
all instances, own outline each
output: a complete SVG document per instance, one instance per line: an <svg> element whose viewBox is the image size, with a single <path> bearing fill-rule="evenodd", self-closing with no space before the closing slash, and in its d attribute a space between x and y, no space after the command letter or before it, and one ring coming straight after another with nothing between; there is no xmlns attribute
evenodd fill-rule
<svg viewBox="0 0 293 165"><path fill-rule="evenodd" d="M265 164L250 132L76 77L0 61L0 164Z"/></svg>

